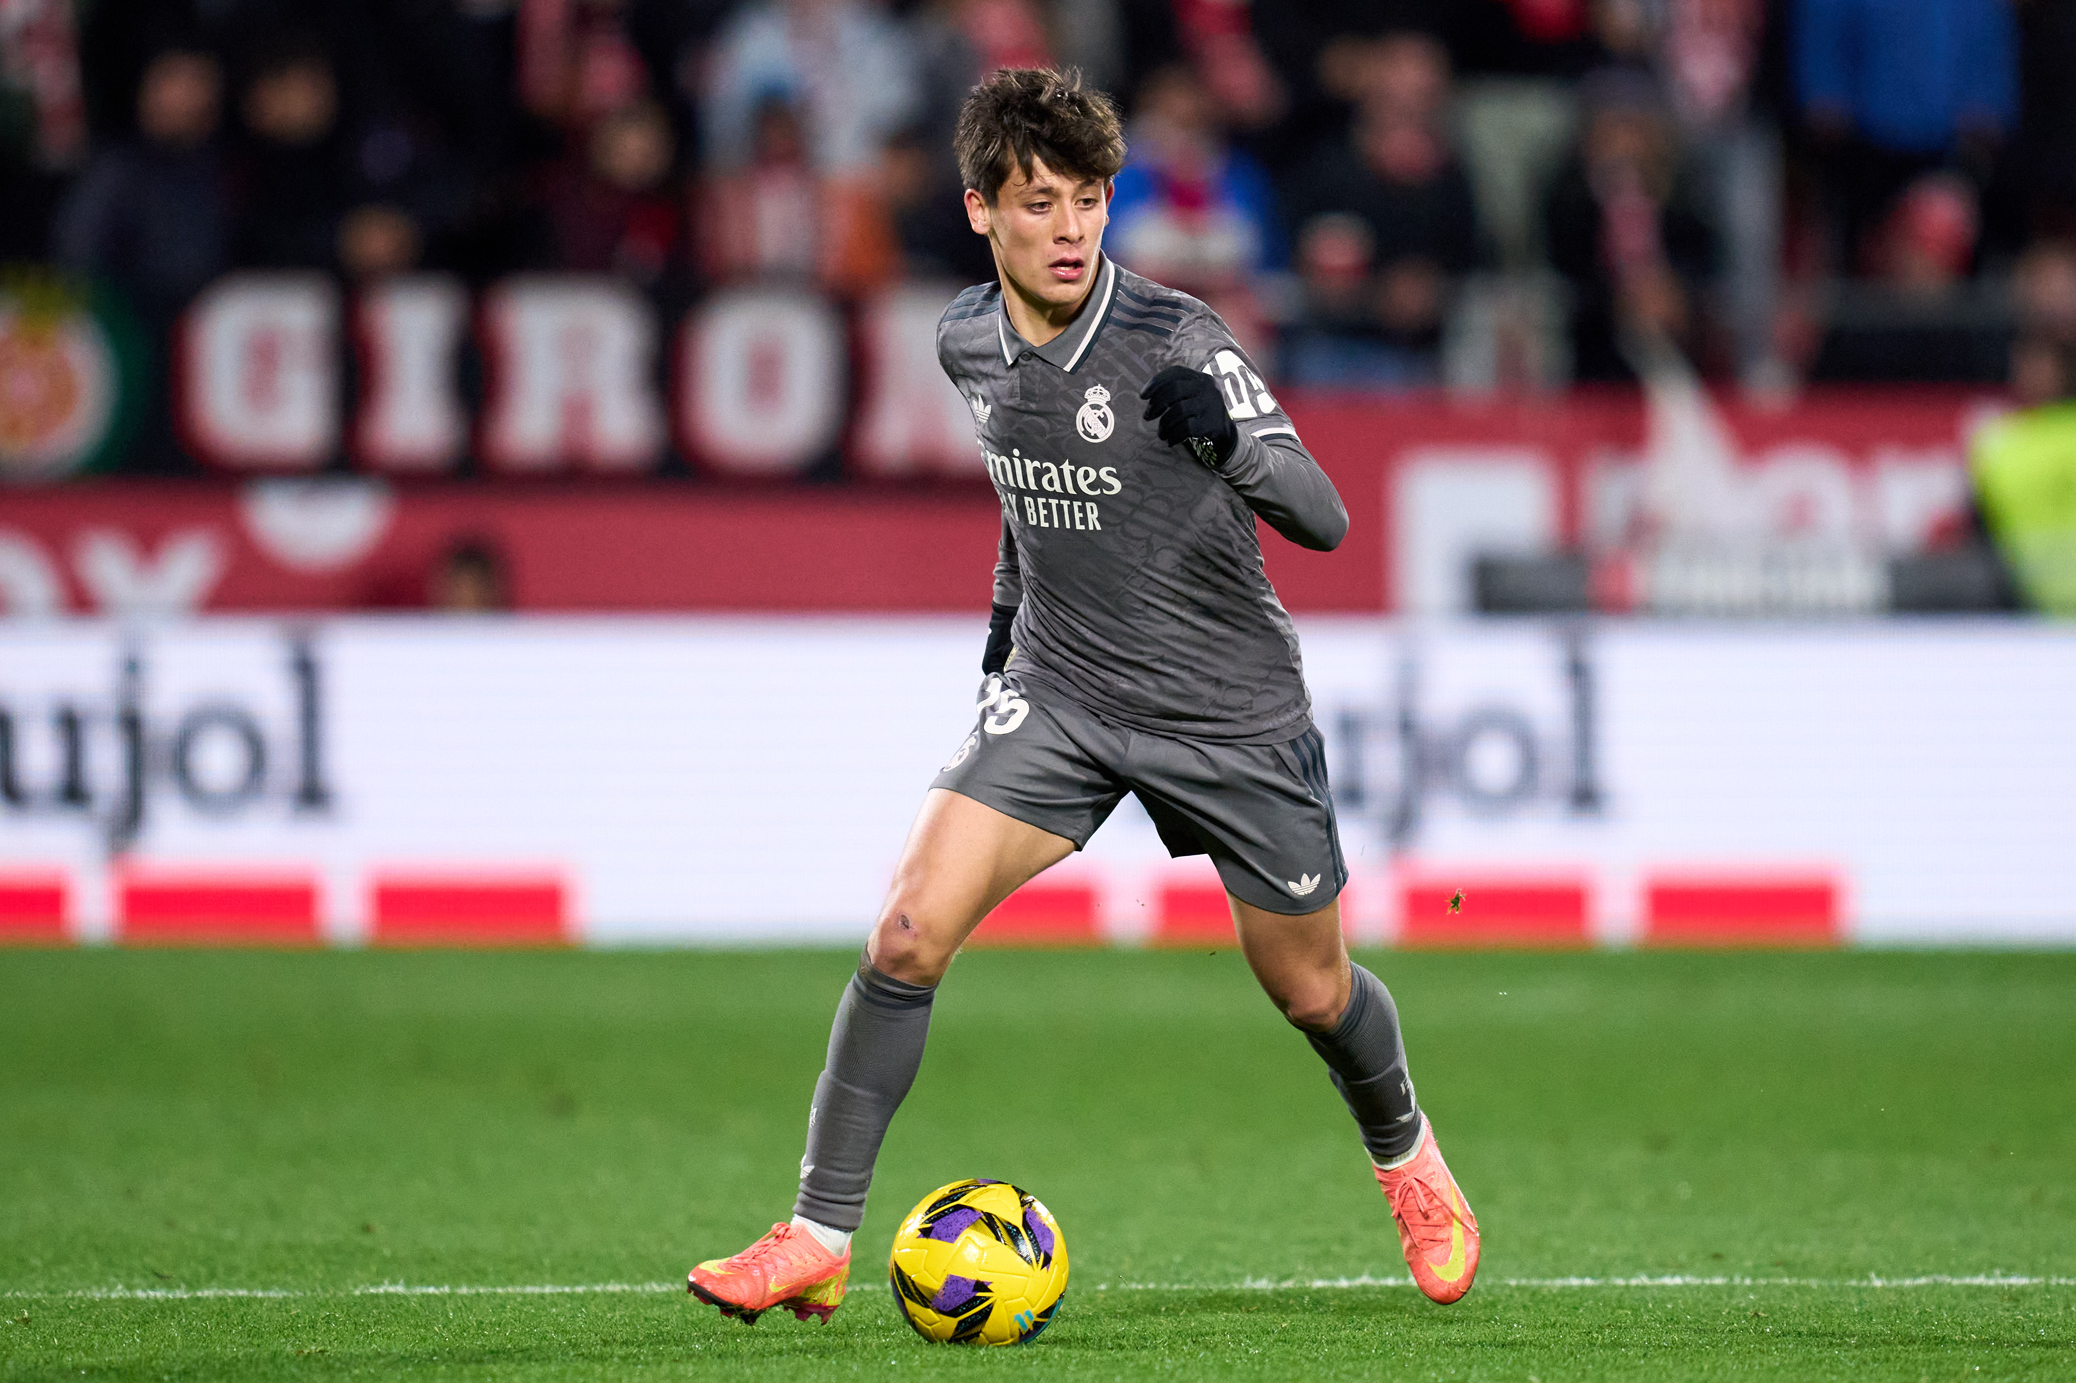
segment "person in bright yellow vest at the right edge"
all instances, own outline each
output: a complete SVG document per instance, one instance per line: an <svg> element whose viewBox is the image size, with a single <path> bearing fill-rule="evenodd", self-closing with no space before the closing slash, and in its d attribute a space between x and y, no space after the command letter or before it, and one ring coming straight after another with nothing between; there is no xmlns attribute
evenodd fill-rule
<svg viewBox="0 0 2076 1383"><path fill-rule="evenodd" d="M2012 388L2024 406L1983 427L1968 454L1976 516L2020 601L2076 618L2076 346L2020 338Z"/></svg>

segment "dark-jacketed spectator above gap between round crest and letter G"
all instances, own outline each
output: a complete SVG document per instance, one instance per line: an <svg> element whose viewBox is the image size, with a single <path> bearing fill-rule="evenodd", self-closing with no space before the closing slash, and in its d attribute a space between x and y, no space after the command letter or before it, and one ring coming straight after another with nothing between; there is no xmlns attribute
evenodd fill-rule
<svg viewBox="0 0 2076 1383"><path fill-rule="evenodd" d="M137 89L137 137L102 149L58 209L52 255L122 288L154 328L228 261L220 106L210 52L162 50Z"/></svg>

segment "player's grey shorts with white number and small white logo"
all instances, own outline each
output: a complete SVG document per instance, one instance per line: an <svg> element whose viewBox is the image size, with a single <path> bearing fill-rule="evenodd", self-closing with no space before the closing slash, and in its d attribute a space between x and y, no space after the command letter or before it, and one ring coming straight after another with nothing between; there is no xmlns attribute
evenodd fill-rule
<svg viewBox="0 0 2076 1383"><path fill-rule="evenodd" d="M978 709L934 788L1065 836L1075 850L1131 792L1169 854L1208 854L1229 894L1268 912L1316 912L1347 883L1318 730L1283 744L1146 734L1013 672L988 678Z"/></svg>

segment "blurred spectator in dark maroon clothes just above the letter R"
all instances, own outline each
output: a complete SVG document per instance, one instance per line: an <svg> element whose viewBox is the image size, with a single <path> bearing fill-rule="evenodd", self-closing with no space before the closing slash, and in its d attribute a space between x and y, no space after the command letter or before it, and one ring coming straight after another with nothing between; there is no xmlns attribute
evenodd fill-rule
<svg viewBox="0 0 2076 1383"><path fill-rule="evenodd" d="M561 164L546 178L554 265L658 286L685 249L675 162L671 120L654 102L594 122L583 162Z"/></svg>

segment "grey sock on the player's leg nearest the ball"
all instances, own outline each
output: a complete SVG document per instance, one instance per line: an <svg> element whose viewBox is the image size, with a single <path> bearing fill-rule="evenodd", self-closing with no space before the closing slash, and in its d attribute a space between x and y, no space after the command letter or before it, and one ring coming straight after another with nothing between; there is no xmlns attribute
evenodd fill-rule
<svg viewBox="0 0 2076 1383"><path fill-rule="evenodd" d="M830 1230L864 1223L872 1163L895 1109L916 1084L934 995L936 985L909 985L857 960L828 1033L828 1064L814 1082L795 1215Z"/></svg>

